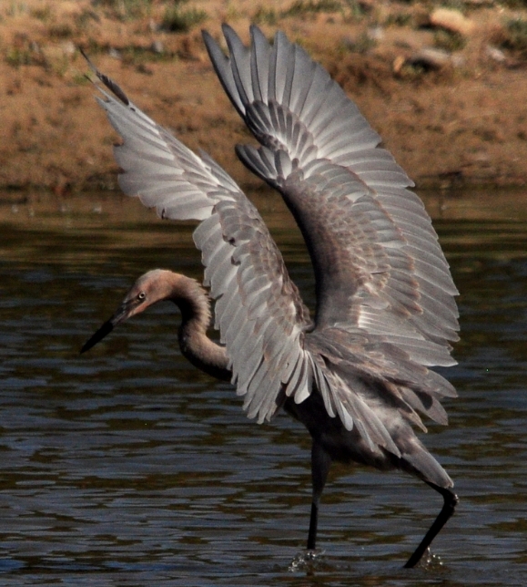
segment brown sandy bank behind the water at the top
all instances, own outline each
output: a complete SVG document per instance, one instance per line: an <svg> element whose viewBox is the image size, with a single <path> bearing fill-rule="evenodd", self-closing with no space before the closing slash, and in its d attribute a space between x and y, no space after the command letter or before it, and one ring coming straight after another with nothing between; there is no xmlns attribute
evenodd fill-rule
<svg viewBox="0 0 527 587"><path fill-rule="evenodd" d="M0 188L116 186L117 136L96 106L77 46L190 148L207 150L238 182L255 182L234 156L234 144L248 134L199 33L204 27L218 36L227 21L247 40L255 20L269 36L284 30L329 69L421 187L527 182L527 50L507 36L512 18L527 21L525 8L471 0L461 24L445 26L431 23L432 2L349 1L339 8L337 0L301 0L292 15L294 2L209 0L181 4L183 15L202 11L207 18L175 33L162 26L167 4L0 5ZM434 45L455 50L422 54Z"/></svg>

